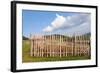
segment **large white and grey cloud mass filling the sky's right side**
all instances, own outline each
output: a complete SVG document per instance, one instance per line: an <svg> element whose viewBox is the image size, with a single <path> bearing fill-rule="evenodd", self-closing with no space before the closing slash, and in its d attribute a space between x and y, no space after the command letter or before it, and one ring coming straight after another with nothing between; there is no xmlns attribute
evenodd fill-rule
<svg viewBox="0 0 100 73"><path fill-rule="evenodd" d="M43 29L44 32L53 32L56 30L66 29L67 32L89 32L90 31L90 15L75 14L67 17L56 14L56 18L50 25ZM86 29L88 31L86 31Z"/></svg>

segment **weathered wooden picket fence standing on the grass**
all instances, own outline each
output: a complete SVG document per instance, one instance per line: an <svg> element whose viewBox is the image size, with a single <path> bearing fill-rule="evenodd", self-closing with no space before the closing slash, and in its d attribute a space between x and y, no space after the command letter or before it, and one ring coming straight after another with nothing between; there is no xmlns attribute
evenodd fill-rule
<svg viewBox="0 0 100 73"><path fill-rule="evenodd" d="M86 36L34 35L30 41L34 57L90 56L90 38Z"/></svg>

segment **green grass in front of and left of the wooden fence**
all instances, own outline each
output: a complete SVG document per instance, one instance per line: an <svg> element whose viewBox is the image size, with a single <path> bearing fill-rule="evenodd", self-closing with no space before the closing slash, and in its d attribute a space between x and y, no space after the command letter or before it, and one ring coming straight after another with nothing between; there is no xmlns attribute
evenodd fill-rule
<svg viewBox="0 0 100 73"><path fill-rule="evenodd" d="M49 58L41 58L41 57L31 57L30 56L30 41L23 40L23 48L22 48L22 61L23 62L47 62L47 61L70 61L70 60L86 60L90 59L88 56L69 56L69 57L49 57Z"/></svg>

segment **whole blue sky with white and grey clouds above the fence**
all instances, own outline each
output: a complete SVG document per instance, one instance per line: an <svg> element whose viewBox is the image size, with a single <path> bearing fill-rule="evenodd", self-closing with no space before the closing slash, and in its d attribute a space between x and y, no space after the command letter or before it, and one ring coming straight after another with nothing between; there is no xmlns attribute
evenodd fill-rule
<svg viewBox="0 0 100 73"><path fill-rule="evenodd" d="M56 11L22 11L23 36L30 34L82 35L91 32L91 14Z"/></svg>

